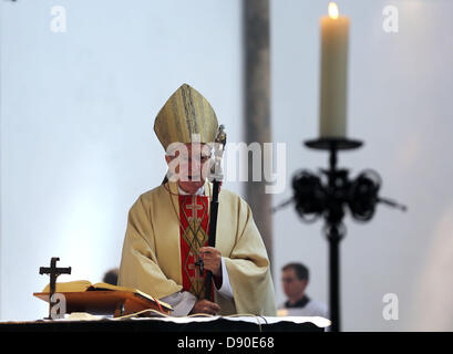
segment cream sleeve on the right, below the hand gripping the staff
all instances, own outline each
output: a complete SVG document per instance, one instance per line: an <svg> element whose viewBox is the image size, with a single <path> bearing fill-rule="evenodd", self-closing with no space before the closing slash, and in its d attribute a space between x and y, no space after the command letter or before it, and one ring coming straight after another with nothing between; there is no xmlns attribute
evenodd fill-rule
<svg viewBox="0 0 453 354"><path fill-rule="evenodd" d="M225 258L237 313L276 315L269 259L246 201L239 198L236 243Z"/></svg>

